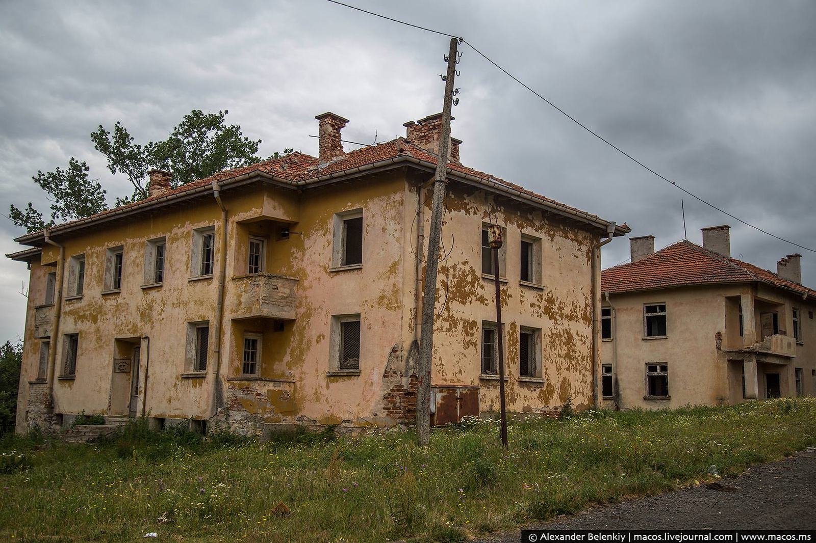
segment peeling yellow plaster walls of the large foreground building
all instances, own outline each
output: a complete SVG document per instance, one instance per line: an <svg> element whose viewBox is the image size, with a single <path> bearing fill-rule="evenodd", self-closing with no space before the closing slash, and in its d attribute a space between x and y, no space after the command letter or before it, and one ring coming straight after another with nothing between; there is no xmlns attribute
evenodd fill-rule
<svg viewBox="0 0 816 543"><path fill-rule="evenodd" d="M230 189L222 193L228 210L226 248L220 243L220 209L211 196L58 240L65 245L66 264L73 255L85 254L86 276L82 297L64 300L51 342L59 375L64 334L79 334L76 377L55 381L55 412L120 414L113 411L122 411L127 399L121 396L129 390L112 383L129 379L129 374L116 376L114 359L127 355L123 349L140 345L136 410L144 408L151 417L208 419L242 433L257 433L264 424L371 427L412 422L417 186L427 177L399 169L302 193L260 184ZM597 233L539 210L494 202L472 188L451 184L449 189L443 240L447 250L451 239L455 243L440 265L432 382L481 386L481 411L498 408L498 382L479 377L481 321L495 320L493 281L481 276L481 223L495 206L508 236L508 281L502 284L508 409L547 411L569 396L576 407L587 407L592 403L590 258ZM363 264L333 269L334 215L357 209L363 210ZM429 217L426 210L426 235ZM193 231L203 227L215 227L215 274L191 278ZM286 227L290 235L282 237ZM519 284L522 232L542 238L540 288ZM145 246L159 236L166 236L164 281L143 285ZM267 240L262 276L246 275L249 236ZM118 245L124 247L122 289L102 294L106 251ZM224 249L222 365L215 375L217 266ZM55 248L46 247L42 262L54 263L57 256ZM37 371L39 346L31 322L51 269L38 263L32 267L21 377L25 384ZM332 375L331 317L357 313L360 374ZM207 370L191 375L188 323L204 320L211 330ZM542 329L541 382L519 380L520 326ZM254 377L241 374L246 332L263 334ZM146 405L144 336L150 338ZM223 404L213 417L216 380ZM20 406L28 400L28 387L21 387ZM24 426L18 422L18 430Z"/></svg>

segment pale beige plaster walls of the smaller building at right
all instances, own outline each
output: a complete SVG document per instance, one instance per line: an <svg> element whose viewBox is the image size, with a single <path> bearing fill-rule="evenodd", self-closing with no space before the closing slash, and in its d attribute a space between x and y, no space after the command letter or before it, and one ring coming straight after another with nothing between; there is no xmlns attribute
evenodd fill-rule
<svg viewBox="0 0 816 543"><path fill-rule="evenodd" d="M774 365L762 371L781 373L783 395L792 395L793 369L803 369L803 393L816 394L816 320L809 319L813 302L804 302L780 289L754 285L690 286L644 293L611 294L614 307L613 339L602 342L603 364L613 364L615 391L620 408L679 408L692 404L735 404L743 401L741 361L726 352L742 347L739 336L738 306L729 298L749 296L785 304L780 311L780 328L791 321L792 307L802 311L804 342L796 346L796 358L787 365ZM666 303L667 338L645 339L643 306ZM604 299L604 305L606 302ZM755 319L759 326L759 317ZM787 335L792 329L787 327ZM746 329L746 333L750 330ZM718 336L719 334L719 336ZM757 336L760 333L757 331ZM718 338L721 349L717 349ZM671 400L645 400L645 364L668 364L668 388ZM789 386L786 394L785 386ZM764 381L759 383L761 396ZM605 400L606 407L614 401Z"/></svg>

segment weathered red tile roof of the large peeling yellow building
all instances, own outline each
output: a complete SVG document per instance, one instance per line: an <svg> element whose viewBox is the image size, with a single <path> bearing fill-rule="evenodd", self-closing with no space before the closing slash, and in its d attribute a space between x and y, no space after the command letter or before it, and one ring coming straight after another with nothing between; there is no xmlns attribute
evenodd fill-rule
<svg viewBox="0 0 816 543"><path fill-rule="evenodd" d="M159 196L152 196L145 200L140 200L137 202L133 202L131 204L122 205L118 208L113 208L111 210L104 210L101 213L91 215L91 217L85 219L78 219L76 221L72 221L70 223L60 224L57 227L54 227L55 230L59 231L63 228L72 228L74 226L80 226L84 223L93 222L97 219L104 219L109 215L113 214L120 214L122 211L127 211L135 208L144 208L146 205L152 204L154 201L158 200L166 200L168 196L175 196L181 195L188 192L195 192L196 189L206 189L209 187L213 181L224 181L227 179L234 179L241 175L246 174L254 174L256 172L261 174L268 174L273 175L275 178L282 183L290 183L295 187L305 187L308 186L309 183L313 183L317 179L321 179L326 175L329 174L340 174L345 170L351 170L353 168L357 168L360 166L366 166L370 164L375 164L380 161L387 161L390 159L395 159L398 157L410 156L415 158L419 161L428 162L431 165L436 165L437 157L432 153L427 152L424 148L420 148L413 143L409 143L404 138L397 138L392 139L391 141L379 143L377 145L370 145L364 148L360 148L354 151L350 151L344 154L343 157L335 161L330 161L326 164L321 165L320 161L316 157L312 157L310 155L304 154L302 152L292 152L285 157L259 162L257 164L252 164L250 166L242 166L239 168L233 168L231 170L224 170L220 171L217 174L211 175L206 179L199 179L197 181L193 181L192 183L187 183L179 188L175 188L170 192L165 192ZM499 179L494 177L491 174L486 174L479 170L473 170L472 168L468 168L467 166L462 166L461 164L457 164L454 162L448 163L448 168L451 171L459 172L459 174L467 174L477 177L479 179L485 179L487 181L497 183L499 185L503 185L506 188L510 188L516 190L520 193L526 194L528 196L532 196L534 198L539 198L542 201L546 201L554 206L558 206L562 210L569 210L571 212L577 214L583 214L590 220L596 220L601 223L605 223L604 219L600 217L588 214L584 211L578 210L577 208L571 207L569 205L561 204L558 201L552 200L546 196L542 196L540 194L536 194L535 192L528 191L525 188L517 185L515 183L509 183L503 179ZM629 227L626 223L623 223L618 226L618 234L622 235L623 232L629 232ZM43 235L43 232L33 232L32 234L26 234L24 236L20 236L16 239L16 241L20 241L22 243L30 243L35 239L38 239Z"/></svg>

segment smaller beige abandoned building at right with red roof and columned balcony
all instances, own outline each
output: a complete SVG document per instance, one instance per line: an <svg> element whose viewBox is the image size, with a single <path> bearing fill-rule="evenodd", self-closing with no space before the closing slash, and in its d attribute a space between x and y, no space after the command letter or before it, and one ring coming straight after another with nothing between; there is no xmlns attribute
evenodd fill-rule
<svg viewBox="0 0 816 543"><path fill-rule="evenodd" d="M776 273L731 258L728 226L703 228L702 247L630 242L631 262L602 273L606 406L816 394L816 291L801 284L799 254Z"/></svg>

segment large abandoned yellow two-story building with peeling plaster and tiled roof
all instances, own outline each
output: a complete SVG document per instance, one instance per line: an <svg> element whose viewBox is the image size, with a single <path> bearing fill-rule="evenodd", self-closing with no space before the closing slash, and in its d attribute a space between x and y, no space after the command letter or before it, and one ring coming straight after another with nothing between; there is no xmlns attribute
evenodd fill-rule
<svg viewBox="0 0 816 543"><path fill-rule="evenodd" d="M157 426L395 426L415 417L415 356L441 116L345 152L317 116L294 152L20 236L30 289L17 430L78 413ZM600 245L628 232L448 157L432 422L498 408L499 263L508 408L593 401ZM594 294L594 295L593 295Z"/></svg>

